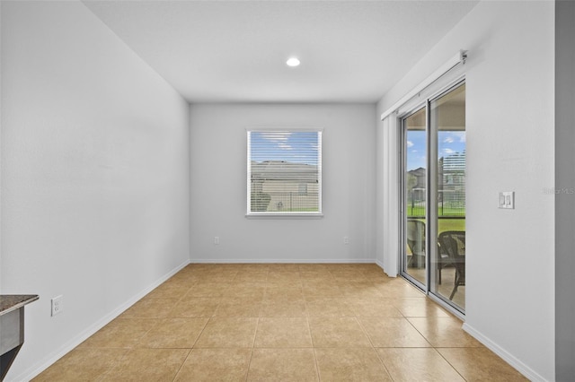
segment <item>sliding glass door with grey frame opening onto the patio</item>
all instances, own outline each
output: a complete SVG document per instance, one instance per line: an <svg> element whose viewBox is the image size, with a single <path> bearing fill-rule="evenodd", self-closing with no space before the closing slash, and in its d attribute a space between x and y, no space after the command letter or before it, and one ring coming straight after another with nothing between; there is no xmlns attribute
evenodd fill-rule
<svg viewBox="0 0 575 382"><path fill-rule="evenodd" d="M403 129L401 273L465 308L465 84L400 118Z"/></svg>

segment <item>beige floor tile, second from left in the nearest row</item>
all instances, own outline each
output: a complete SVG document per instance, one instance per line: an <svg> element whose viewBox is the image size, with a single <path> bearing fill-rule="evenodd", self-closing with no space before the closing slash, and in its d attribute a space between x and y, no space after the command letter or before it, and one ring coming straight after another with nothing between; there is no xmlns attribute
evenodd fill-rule
<svg viewBox="0 0 575 382"><path fill-rule="evenodd" d="M189 349L133 349L102 381L172 381Z"/></svg>

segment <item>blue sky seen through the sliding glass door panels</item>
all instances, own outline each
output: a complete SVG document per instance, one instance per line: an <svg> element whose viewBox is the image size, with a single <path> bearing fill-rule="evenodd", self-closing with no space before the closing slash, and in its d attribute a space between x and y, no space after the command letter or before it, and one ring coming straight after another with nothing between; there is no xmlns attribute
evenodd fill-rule
<svg viewBox="0 0 575 382"><path fill-rule="evenodd" d="M427 152L426 132L411 130L407 132L407 170L426 168ZM464 131L440 131L438 134L438 157L447 157L465 150Z"/></svg>

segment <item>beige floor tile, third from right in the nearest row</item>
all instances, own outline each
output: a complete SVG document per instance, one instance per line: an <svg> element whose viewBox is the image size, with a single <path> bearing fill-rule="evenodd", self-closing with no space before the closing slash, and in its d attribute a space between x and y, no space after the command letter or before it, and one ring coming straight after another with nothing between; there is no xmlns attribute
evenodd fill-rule
<svg viewBox="0 0 575 382"><path fill-rule="evenodd" d="M391 381L384 365L370 348L315 349L320 379L326 381Z"/></svg>

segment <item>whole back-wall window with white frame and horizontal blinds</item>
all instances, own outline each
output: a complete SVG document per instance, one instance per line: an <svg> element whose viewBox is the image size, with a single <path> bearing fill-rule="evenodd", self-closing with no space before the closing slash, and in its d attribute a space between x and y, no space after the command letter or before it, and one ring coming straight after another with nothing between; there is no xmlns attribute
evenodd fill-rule
<svg viewBox="0 0 575 382"><path fill-rule="evenodd" d="M322 131L248 130L247 214L322 214Z"/></svg>

